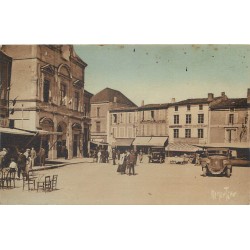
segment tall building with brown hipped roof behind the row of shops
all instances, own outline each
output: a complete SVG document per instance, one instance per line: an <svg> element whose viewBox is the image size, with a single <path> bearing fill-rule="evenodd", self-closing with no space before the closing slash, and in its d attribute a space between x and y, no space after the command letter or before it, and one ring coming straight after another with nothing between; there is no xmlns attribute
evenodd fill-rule
<svg viewBox="0 0 250 250"><path fill-rule="evenodd" d="M91 98L91 142L93 144L107 144L108 131L108 112L114 108L137 107L120 91L105 88Z"/></svg>

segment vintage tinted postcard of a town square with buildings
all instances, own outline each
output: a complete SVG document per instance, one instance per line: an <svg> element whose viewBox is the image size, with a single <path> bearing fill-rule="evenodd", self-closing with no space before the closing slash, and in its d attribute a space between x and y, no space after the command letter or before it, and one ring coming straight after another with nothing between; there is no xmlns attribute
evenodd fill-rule
<svg viewBox="0 0 250 250"><path fill-rule="evenodd" d="M249 67L249 45L1 45L0 204L249 204Z"/></svg>

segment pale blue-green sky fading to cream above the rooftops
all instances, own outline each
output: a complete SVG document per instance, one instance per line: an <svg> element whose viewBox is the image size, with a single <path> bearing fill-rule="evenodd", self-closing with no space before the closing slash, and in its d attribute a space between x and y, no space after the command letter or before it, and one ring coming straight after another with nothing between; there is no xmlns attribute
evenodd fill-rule
<svg viewBox="0 0 250 250"><path fill-rule="evenodd" d="M88 64L85 89L109 87L137 105L171 98L245 98L250 88L249 45L75 45Z"/></svg>

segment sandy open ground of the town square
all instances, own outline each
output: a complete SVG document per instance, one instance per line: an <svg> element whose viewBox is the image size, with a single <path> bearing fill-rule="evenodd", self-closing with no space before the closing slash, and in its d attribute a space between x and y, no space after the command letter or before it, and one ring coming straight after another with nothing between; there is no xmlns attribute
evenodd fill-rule
<svg viewBox="0 0 250 250"><path fill-rule="evenodd" d="M0 189L0 204L249 204L250 168L235 167L231 178L203 177L193 164L139 163L136 175L120 175L112 163L75 162L36 171L58 174L52 192Z"/></svg>

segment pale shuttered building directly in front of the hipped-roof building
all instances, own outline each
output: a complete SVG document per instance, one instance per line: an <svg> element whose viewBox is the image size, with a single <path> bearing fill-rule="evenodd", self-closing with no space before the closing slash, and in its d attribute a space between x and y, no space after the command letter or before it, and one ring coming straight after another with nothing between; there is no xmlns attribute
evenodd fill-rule
<svg viewBox="0 0 250 250"><path fill-rule="evenodd" d="M113 148L130 149L137 135L137 107L113 108L109 111L107 142Z"/></svg>

